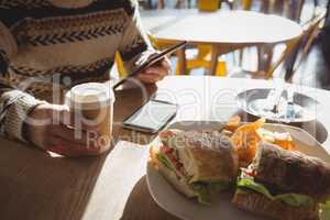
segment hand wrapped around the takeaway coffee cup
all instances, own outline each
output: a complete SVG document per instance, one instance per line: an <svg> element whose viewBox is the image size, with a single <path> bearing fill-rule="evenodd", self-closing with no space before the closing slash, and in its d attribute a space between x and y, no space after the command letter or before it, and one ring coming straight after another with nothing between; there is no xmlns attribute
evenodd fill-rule
<svg viewBox="0 0 330 220"><path fill-rule="evenodd" d="M79 131L80 136L77 138L74 127L68 127L72 124L69 121L69 110L66 106L37 106L26 121L28 138L36 146L65 156L98 155L109 148L89 143L87 134L97 134L96 127L82 125L84 131Z"/></svg>

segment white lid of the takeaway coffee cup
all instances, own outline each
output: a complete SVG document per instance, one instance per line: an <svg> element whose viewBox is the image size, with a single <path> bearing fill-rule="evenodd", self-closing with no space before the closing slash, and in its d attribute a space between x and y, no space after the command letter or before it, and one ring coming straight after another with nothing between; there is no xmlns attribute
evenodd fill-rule
<svg viewBox="0 0 330 220"><path fill-rule="evenodd" d="M66 95L70 103L94 105L94 103L113 103L116 100L112 88L99 82L88 82L75 86Z"/></svg>

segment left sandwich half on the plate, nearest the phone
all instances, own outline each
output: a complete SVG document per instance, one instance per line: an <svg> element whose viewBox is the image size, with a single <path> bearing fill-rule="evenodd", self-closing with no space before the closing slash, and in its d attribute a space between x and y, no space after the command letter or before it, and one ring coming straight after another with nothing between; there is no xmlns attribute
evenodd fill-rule
<svg viewBox="0 0 330 220"><path fill-rule="evenodd" d="M210 205L211 197L234 184L239 161L220 132L167 130L154 152L158 170L182 194Z"/></svg>

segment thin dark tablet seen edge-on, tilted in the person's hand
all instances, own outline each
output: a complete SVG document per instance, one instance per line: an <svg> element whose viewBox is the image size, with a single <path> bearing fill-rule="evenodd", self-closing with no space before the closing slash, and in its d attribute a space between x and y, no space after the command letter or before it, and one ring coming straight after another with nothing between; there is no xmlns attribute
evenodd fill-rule
<svg viewBox="0 0 330 220"><path fill-rule="evenodd" d="M118 81L112 89L116 90L119 86L121 86L122 84L124 84L129 78L134 77L135 75L138 75L140 72L142 72L143 69L145 69L146 67L150 67L152 65L154 65L155 63L160 62L161 59L163 59L166 55L174 53L175 51L184 47L185 45L187 45L187 42L180 42L169 48L166 48L164 52L161 52L160 54L156 54L154 57L151 57L148 61L146 61L144 64L142 64L141 66L139 66L136 69L134 69L131 74L129 74L125 78L121 79L120 81Z"/></svg>

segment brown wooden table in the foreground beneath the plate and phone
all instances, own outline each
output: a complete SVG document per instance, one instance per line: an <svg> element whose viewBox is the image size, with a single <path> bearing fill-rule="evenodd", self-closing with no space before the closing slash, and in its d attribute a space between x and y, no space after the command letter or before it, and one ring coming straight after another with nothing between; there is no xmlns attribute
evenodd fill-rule
<svg viewBox="0 0 330 220"><path fill-rule="evenodd" d="M226 121L240 113L235 95L251 88L268 88L271 81L219 77L167 77L147 87L158 99L178 102L178 120ZM302 128L323 142L330 153L330 92L308 87L296 90L316 98L318 123ZM154 136L121 128L142 103L139 89L117 92L113 150L98 157L63 158L13 141L0 139L1 220L117 220L176 219L162 210L148 194L145 166ZM249 120L249 118L244 118ZM319 135L321 133L322 135Z"/></svg>

